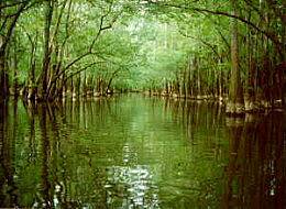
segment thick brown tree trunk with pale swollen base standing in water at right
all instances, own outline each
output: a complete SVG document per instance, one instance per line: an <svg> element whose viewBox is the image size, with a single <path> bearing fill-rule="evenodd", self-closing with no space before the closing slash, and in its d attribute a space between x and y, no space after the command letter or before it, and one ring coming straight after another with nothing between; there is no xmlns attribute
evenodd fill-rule
<svg viewBox="0 0 286 209"><path fill-rule="evenodd" d="M237 15L237 2L232 0L233 14ZM227 113L241 114L244 112L243 89L240 77L239 66L239 38L238 20L232 20L231 38L231 78L229 87L229 98L227 102Z"/></svg>

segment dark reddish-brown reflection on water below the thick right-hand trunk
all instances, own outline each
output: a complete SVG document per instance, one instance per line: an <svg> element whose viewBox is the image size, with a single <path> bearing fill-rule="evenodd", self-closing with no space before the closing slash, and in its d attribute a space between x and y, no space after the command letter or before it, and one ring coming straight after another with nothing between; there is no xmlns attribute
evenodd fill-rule
<svg viewBox="0 0 286 209"><path fill-rule="evenodd" d="M255 118L254 118L255 119ZM286 151L283 114L231 124L224 207L283 208Z"/></svg>

